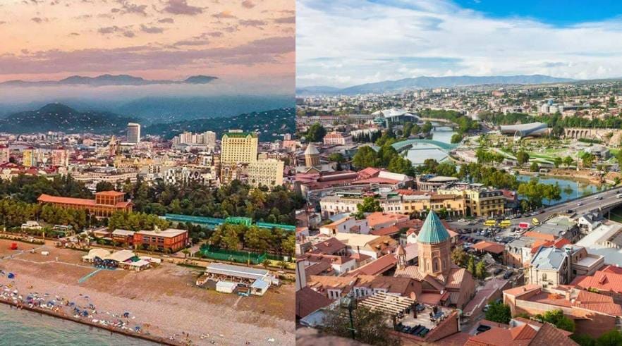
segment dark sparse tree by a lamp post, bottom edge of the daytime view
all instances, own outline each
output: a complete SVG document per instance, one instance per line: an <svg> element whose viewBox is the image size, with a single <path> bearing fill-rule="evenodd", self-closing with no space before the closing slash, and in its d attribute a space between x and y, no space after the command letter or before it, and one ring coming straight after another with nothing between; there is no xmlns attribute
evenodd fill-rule
<svg viewBox="0 0 622 346"><path fill-rule="evenodd" d="M387 324L389 316L378 310L370 311L365 307L358 307L352 311L352 325L354 338L358 342L369 345L393 346L400 345L400 341L392 333ZM330 309L322 321L322 333L327 335L351 338L350 317L346 308Z"/></svg>

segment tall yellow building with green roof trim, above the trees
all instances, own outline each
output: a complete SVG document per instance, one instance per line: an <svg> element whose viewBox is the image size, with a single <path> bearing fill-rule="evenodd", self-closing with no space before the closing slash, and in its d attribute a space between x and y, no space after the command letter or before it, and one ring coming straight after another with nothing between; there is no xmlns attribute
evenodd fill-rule
<svg viewBox="0 0 622 346"><path fill-rule="evenodd" d="M258 138L254 132L229 131L222 136L220 161L223 165L257 161Z"/></svg>

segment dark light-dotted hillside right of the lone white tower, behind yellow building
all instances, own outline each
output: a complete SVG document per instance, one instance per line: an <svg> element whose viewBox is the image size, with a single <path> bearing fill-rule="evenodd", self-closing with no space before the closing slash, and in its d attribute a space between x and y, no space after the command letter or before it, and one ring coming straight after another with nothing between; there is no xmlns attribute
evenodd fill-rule
<svg viewBox="0 0 622 346"><path fill-rule="evenodd" d="M228 118L205 118L175 123L160 123L147 126L143 132L148 135L163 135L167 139L184 131L214 131L218 136L230 129L260 132L260 140L283 139L283 133L295 132L295 110L293 108L272 111L243 113Z"/></svg>

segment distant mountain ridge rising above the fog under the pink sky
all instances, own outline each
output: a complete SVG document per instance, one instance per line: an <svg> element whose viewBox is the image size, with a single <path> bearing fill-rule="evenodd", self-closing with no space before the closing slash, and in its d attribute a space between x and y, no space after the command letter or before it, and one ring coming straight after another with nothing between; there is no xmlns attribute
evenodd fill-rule
<svg viewBox="0 0 622 346"><path fill-rule="evenodd" d="M72 75L62 80L41 80L29 82L24 80L9 80L1 82L0 86L11 87L53 87L59 85L89 85L92 87L104 87L110 85L154 85L154 84L207 84L217 77L209 75L193 75L185 80L145 80L144 78L134 77L133 75L98 75L97 77L84 77Z"/></svg>

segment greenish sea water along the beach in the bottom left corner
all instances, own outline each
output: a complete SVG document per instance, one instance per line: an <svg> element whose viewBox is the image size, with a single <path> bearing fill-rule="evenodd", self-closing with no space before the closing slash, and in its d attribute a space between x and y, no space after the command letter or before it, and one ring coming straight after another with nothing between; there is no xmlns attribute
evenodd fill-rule
<svg viewBox="0 0 622 346"><path fill-rule="evenodd" d="M0 304L0 345L152 346L158 344L32 311L11 309L6 304Z"/></svg>

